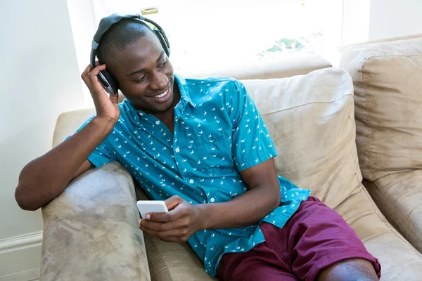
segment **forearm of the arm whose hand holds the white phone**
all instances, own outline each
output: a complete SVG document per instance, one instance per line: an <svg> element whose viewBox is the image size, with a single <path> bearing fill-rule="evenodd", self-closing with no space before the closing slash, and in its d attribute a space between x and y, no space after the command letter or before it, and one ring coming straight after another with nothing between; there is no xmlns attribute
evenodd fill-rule
<svg viewBox="0 0 422 281"><path fill-rule="evenodd" d="M198 204L203 229L251 226L279 207L279 188L254 188L230 202Z"/></svg>

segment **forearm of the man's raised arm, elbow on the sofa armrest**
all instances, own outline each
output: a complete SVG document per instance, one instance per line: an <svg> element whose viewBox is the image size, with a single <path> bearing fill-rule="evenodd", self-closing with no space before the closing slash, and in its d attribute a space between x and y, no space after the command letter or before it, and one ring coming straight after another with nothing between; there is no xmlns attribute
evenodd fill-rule
<svg viewBox="0 0 422 281"><path fill-rule="evenodd" d="M110 119L95 117L67 141L27 164L15 192L20 207L38 209L60 195L113 126Z"/></svg>

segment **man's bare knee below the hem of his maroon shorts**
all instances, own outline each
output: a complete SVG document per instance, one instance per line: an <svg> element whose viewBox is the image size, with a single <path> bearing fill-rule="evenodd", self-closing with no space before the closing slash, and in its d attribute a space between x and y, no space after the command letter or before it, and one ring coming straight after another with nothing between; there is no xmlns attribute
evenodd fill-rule
<svg viewBox="0 0 422 281"><path fill-rule="evenodd" d="M318 281L376 281L379 280L372 263L364 259L347 259L324 268L316 276Z"/></svg>

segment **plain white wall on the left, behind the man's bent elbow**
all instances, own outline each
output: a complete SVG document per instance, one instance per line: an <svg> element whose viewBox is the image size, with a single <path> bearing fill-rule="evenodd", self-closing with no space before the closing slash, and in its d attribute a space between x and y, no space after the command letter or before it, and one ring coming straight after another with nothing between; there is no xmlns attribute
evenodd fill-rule
<svg viewBox="0 0 422 281"><path fill-rule="evenodd" d="M2 276L39 266L4 263L17 241L42 230L41 212L20 210L15 187L23 166L51 149L60 112L83 107L84 96L66 0L1 0L0 34Z"/></svg>

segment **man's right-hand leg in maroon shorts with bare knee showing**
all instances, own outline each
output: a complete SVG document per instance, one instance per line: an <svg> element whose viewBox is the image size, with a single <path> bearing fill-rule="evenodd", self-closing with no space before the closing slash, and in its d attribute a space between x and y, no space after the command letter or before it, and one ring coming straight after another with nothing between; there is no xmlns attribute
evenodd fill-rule
<svg viewBox="0 0 422 281"><path fill-rule="evenodd" d="M381 266L354 230L333 209L314 197L283 227L288 259L301 280L378 280ZM375 278L375 279L374 279Z"/></svg>

